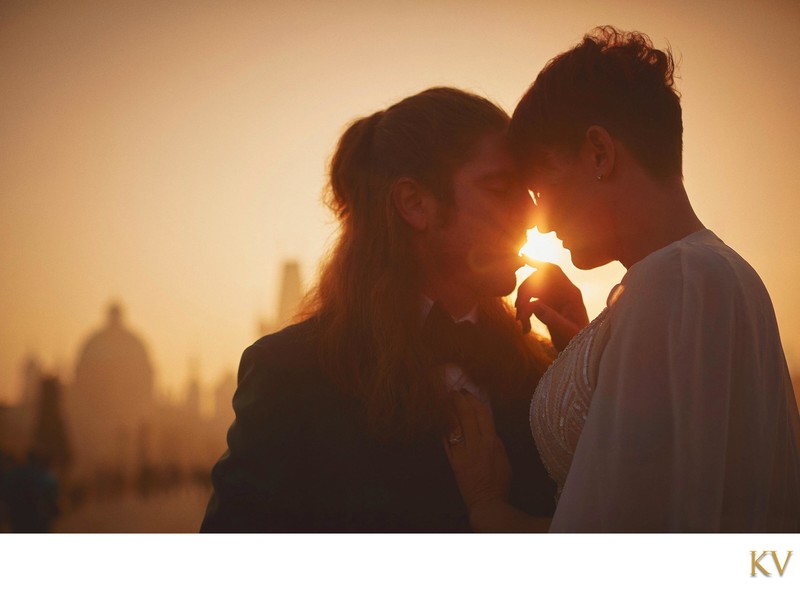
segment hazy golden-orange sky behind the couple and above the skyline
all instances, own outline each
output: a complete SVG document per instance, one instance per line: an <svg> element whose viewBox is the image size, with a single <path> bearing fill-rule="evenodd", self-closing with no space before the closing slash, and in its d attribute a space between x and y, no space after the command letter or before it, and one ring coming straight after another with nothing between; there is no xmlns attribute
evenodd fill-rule
<svg viewBox="0 0 800 594"><path fill-rule="evenodd" d="M69 381L111 299L161 388L235 369L281 262L315 274L348 121L433 85L513 109L595 25L678 57L701 220L761 274L800 363L800 3L428 1L0 4L0 400L36 353ZM558 246L558 242L552 246ZM576 273L590 314L624 270Z"/></svg>

